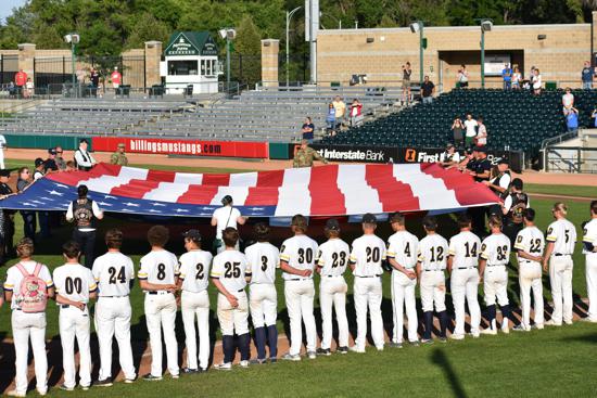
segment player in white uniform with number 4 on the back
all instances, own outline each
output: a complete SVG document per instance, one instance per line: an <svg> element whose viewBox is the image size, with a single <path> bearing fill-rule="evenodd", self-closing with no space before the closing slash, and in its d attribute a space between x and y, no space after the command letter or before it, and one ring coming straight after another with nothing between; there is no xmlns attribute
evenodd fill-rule
<svg viewBox="0 0 597 398"><path fill-rule="evenodd" d="M390 219L394 234L388 240L388 260L392 266L392 312L394 316L394 332L392 347L402 348L404 333L404 309L408 318L408 341L419 344L417 336L417 254L419 240L406 230L404 216L396 213Z"/></svg>

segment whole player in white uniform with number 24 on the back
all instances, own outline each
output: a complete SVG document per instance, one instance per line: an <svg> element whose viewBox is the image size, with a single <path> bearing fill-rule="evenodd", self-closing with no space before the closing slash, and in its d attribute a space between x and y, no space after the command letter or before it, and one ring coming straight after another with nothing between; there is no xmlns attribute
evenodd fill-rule
<svg viewBox="0 0 597 398"><path fill-rule="evenodd" d="M130 288L135 280L132 260L120 253L123 232L117 229L105 233L107 253L96 258L91 272L98 284L96 331L100 345L100 376L96 386L112 385L112 339L118 343L118 359L125 383L137 377L130 347Z"/></svg>

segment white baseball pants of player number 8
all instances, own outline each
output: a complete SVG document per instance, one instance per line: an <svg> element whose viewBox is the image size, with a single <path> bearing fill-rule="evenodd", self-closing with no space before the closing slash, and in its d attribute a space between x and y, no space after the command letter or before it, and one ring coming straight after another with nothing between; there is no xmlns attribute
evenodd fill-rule
<svg viewBox="0 0 597 398"><path fill-rule="evenodd" d="M151 374L162 376L162 330L166 344L168 372L178 375L178 343L174 331L176 322L176 298L166 291L145 293L145 320L151 346Z"/></svg>

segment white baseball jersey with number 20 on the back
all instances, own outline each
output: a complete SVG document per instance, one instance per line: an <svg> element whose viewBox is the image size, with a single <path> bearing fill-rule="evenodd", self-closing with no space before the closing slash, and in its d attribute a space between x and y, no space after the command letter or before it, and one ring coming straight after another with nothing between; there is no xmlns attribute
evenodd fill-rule
<svg viewBox="0 0 597 398"><path fill-rule="evenodd" d="M385 243L378 235L363 235L353 242L351 262L355 277L378 277L383 273L381 261L385 259Z"/></svg>

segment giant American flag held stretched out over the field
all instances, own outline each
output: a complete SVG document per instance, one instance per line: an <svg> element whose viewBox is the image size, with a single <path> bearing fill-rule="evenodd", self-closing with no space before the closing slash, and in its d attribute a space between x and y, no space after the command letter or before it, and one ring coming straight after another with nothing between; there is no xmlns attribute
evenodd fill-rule
<svg viewBox="0 0 597 398"><path fill-rule="evenodd" d="M0 208L65 210L86 184L109 213L211 217L224 195L253 217L434 213L486 206L498 198L483 184L435 164L327 165L241 174L189 174L100 164L91 171L49 175Z"/></svg>

